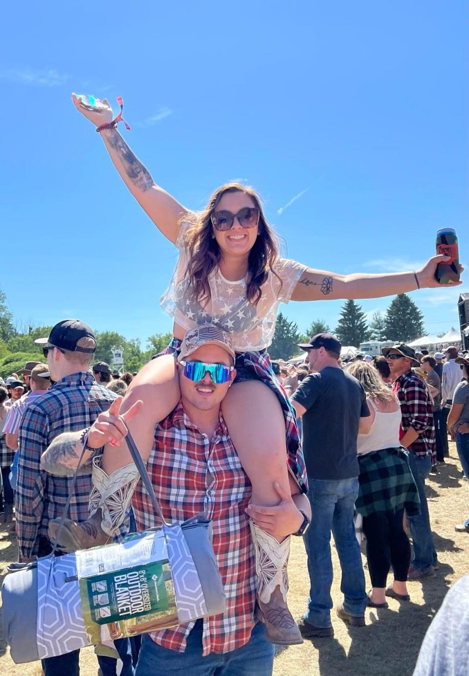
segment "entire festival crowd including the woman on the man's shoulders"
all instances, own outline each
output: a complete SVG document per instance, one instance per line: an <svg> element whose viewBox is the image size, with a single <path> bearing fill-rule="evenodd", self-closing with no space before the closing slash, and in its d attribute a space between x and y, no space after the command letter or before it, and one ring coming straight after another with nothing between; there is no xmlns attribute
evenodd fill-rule
<svg viewBox="0 0 469 676"><path fill-rule="evenodd" d="M19 373L7 379L10 401L3 410L14 413L4 425L8 435L10 425L18 435L12 472L18 562L10 570L50 554L55 541L72 552L105 546L132 523L137 531L160 525L122 443L129 431L166 521L200 512L212 521L226 608L196 622L150 627L139 648L116 640L120 673L269 676L275 644L334 633L331 533L344 594L336 614L347 625L365 625L365 608L386 605L386 597L405 602L407 579L430 577L438 567L424 489L436 458L434 385L414 372L421 368L416 354L397 343L384 351L387 375L380 360L376 368L363 360L349 372L336 337L318 334L299 346L307 352L305 366L282 363L273 370L268 348L277 308L290 300L450 286L435 276L447 257L433 256L409 272L347 275L282 258L253 189L225 184L196 214L137 160L107 101L91 105L75 95L73 101L97 128L129 191L179 251L161 301L174 320L173 339L127 382L113 378L104 362L91 366L96 339L87 324L62 320L36 341L44 363L26 364L23 382ZM447 362L460 368L453 358ZM441 414L439 429L442 437L445 424L454 430L464 450L467 393L445 389L446 366L443 406L451 409ZM10 460L7 455L5 473L2 468L5 502L12 500ZM370 594L355 510L367 539ZM11 509L5 514L13 518ZM299 621L287 603L292 536L304 539L310 577ZM45 676L74 676L79 651L42 664ZM101 656L99 666L104 676L116 673L115 659Z"/></svg>

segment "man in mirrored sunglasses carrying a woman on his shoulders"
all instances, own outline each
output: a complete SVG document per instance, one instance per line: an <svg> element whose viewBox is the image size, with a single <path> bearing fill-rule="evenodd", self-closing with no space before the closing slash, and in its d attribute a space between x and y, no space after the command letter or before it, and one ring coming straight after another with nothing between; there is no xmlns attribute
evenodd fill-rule
<svg viewBox="0 0 469 676"><path fill-rule="evenodd" d="M262 508L253 504L250 481L221 412L221 403L236 378L235 358L229 336L218 327L198 327L186 333L177 361L181 400L169 416L153 425L147 464L166 521L183 521L200 512L212 520L213 548L225 586L225 612L143 636L137 667L137 674L142 676L222 673L221 665L227 673L239 675L271 673L273 646L267 641L266 627L256 624L254 618L256 570L265 579L268 592L274 590L274 596L279 575L272 575L265 556L254 550L250 517L266 531L266 552L273 541L269 533L281 534L286 543L284 567L290 535L303 533L311 509L296 482L288 493L280 485L275 488L280 506ZM139 446L151 424L146 407L154 405L156 397L158 388L148 389L147 401L135 402L122 418L118 417L119 404L113 404L89 430L87 448L101 447L104 441L120 443L127 427ZM43 456L43 468L51 473L64 468L73 472L84 433L54 439ZM92 450L85 453L89 464L95 454ZM99 472L101 457L93 459ZM102 477L106 480L105 475ZM141 482L133 510L140 531L161 525ZM281 632L278 637L282 639Z"/></svg>

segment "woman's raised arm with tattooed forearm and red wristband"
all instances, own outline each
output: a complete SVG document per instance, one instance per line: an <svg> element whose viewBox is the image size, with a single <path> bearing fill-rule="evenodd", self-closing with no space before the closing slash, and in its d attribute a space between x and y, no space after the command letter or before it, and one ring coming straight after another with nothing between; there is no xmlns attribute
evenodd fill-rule
<svg viewBox="0 0 469 676"><path fill-rule="evenodd" d="M112 109L106 99L103 103L107 106L107 110L101 112L83 107L81 99L74 94L72 94L72 100L76 110L96 127L111 122L113 119ZM189 214L189 210L156 185L148 169L135 157L117 129L104 129L100 133L110 158L125 185L164 237L174 243L177 239L179 222Z"/></svg>

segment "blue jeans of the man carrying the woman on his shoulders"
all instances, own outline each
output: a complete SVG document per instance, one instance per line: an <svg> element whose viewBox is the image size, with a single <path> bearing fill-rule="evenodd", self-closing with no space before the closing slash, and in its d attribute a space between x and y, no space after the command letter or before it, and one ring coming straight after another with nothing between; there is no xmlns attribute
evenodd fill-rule
<svg viewBox="0 0 469 676"><path fill-rule="evenodd" d="M144 634L135 676L271 676L273 650L264 625L257 624L242 648L203 657L202 621L197 621L187 637L185 652L162 648Z"/></svg>

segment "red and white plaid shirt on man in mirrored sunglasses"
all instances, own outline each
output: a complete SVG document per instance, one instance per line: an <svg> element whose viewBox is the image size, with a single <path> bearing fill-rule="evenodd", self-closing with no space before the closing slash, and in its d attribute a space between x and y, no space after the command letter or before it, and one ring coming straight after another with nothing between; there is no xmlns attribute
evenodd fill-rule
<svg viewBox="0 0 469 676"><path fill-rule="evenodd" d="M208 439L189 420L181 402L156 426L148 474L166 521L185 521L204 512L213 520L213 549L225 587L223 614L204 619L203 654L241 648L254 627L256 576L249 518L244 512L251 485L220 413ZM133 497L137 530L160 526L141 482ZM151 634L171 650L184 652L194 622Z"/></svg>

